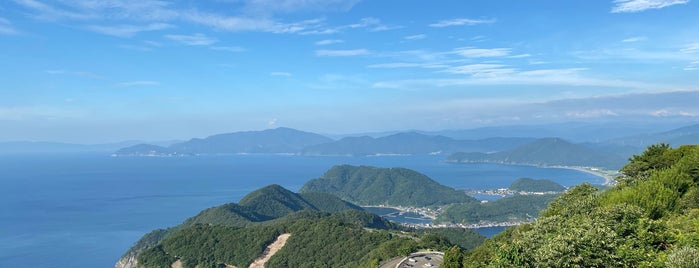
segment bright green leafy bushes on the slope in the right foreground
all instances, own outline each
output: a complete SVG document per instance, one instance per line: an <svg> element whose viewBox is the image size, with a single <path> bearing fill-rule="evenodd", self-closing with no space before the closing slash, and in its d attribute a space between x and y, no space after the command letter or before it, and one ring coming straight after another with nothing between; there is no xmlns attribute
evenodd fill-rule
<svg viewBox="0 0 699 268"><path fill-rule="evenodd" d="M699 267L699 146L653 145L621 172L602 192L571 188L536 222L468 253L464 266Z"/></svg>

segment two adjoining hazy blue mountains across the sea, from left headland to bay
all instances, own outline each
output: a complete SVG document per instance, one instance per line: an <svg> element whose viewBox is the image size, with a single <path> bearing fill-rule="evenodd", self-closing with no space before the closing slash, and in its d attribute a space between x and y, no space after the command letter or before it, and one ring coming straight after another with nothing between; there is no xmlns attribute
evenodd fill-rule
<svg viewBox="0 0 699 268"><path fill-rule="evenodd" d="M303 154L303 155L427 155L459 151L500 151L532 141L530 138L489 138L455 140L416 132L386 137L328 137L290 128L219 134L191 139L169 147L137 144L122 148L117 156L184 156L202 154Z"/></svg>

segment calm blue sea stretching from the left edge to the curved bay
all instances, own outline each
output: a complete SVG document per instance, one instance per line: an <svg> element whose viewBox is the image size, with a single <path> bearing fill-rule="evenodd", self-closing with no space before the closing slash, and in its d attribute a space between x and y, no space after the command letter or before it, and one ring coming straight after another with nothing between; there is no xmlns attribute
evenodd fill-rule
<svg viewBox="0 0 699 268"><path fill-rule="evenodd" d="M260 187L297 191L334 165L405 167L457 189L506 188L517 178L601 184L560 168L452 164L444 156L0 155L0 267L114 267L143 234L174 226ZM502 229L480 230L487 236Z"/></svg>

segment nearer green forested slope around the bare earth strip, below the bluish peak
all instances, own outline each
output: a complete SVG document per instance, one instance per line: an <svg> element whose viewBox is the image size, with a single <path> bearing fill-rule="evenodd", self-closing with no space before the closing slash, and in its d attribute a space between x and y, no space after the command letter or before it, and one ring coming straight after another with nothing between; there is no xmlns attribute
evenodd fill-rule
<svg viewBox="0 0 699 268"><path fill-rule="evenodd" d="M195 224L138 255L139 267L247 267L278 235L286 245L266 267L376 267L419 249L470 249L484 237L471 230L404 230L363 211L300 211L250 227ZM453 241L455 242L452 242Z"/></svg>

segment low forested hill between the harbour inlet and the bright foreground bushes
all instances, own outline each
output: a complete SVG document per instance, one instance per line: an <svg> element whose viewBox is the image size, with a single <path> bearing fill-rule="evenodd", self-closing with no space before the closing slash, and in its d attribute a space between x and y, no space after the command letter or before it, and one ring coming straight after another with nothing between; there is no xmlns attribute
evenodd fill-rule
<svg viewBox="0 0 699 268"><path fill-rule="evenodd" d="M435 222L490 223L534 220L557 195L515 195L487 203L453 204L444 208Z"/></svg>

